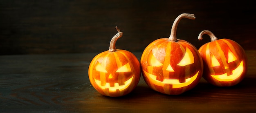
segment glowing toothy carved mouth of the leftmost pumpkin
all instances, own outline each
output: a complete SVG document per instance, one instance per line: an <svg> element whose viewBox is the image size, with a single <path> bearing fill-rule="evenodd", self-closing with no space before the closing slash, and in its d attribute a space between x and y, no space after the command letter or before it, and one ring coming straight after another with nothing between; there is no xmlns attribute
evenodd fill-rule
<svg viewBox="0 0 256 113"><path fill-rule="evenodd" d="M132 78L133 78L133 76L132 76ZM120 85L120 86L119 86L118 83L114 83L114 86L110 86L109 83L106 83L105 86L102 86L102 85L101 85L101 81L96 80L95 78L94 78L94 81L96 82L96 84L97 84L101 89L103 89L103 90L108 89L108 91L110 91L110 92L115 92L115 91L117 91L117 89L119 89L119 91L123 91L124 89L126 89L126 88L131 84L132 78L130 78L129 80L127 80L126 82L124 82L124 85Z"/></svg>

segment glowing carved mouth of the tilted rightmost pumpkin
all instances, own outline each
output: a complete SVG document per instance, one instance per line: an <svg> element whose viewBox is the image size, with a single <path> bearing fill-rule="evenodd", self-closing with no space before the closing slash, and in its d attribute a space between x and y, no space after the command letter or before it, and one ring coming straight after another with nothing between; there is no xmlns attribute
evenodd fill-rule
<svg viewBox="0 0 256 113"><path fill-rule="evenodd" d="M211 77L215 78L218 81L229 82L237 79L243 73L243 61L240 62L239 66L232 71L233 75L227 75L224 73L222 75L211 75Z"/></svg>

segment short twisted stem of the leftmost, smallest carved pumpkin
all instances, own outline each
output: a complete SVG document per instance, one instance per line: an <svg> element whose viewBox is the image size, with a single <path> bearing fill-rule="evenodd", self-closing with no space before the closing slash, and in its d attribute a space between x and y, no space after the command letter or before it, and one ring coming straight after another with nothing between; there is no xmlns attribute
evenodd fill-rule
<svg viewBox="0 0 256 113"><path fill-rule="evenodd" d="M116 35L113 36L113 38L111 39L110 41L110 44L109 44L109 52L115 52L117 51L116 49L116 42L117 42L117 39L119 39L120 37L123 36L123 32L120 31L120 29L118 29L118 27L116 27L118 33Z"/></svg>

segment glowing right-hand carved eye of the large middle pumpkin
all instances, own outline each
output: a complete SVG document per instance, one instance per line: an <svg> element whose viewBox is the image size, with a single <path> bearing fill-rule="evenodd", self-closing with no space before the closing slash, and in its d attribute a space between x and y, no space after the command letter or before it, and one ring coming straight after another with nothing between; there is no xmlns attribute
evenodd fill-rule
<svg viewBox="0 0 256 113"><path fill-rule="evenodd" d="M194 56L193 53L189 50L189 48L186 47L186 53L184 55L184 57L182 58L182 60L180 61L179 66L186 66L189 64L193 64L194 63Z"/></svg>

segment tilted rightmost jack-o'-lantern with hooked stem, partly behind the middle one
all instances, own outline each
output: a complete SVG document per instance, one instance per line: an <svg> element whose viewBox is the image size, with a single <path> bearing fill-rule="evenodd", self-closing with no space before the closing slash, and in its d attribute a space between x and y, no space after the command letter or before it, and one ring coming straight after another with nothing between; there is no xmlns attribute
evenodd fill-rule
<svg viewBox="0 0 256 113"><path fill-rule="evenodd" d="M211 38L198 50L204 62L203 78L216 86L233 86L245 77L247 57L243 48L233 40L219 39L208 30L202 31Z"/></svg>

